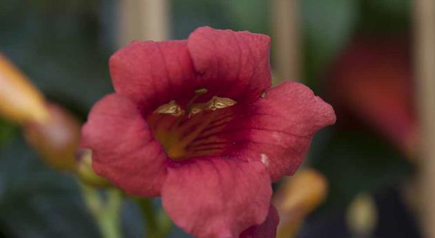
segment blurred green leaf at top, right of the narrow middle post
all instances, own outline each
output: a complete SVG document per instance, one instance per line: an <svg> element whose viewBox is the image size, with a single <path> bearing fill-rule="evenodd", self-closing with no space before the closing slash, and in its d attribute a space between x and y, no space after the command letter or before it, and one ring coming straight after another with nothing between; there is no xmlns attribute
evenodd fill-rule
<svg viewBox="0 0 435 238"><path fill-rule="evenodd" d="M349 39L358 20L357 0L300 1L305 44L305 74L318 80ZM309 82L310 83L310 82Z"/></svg>

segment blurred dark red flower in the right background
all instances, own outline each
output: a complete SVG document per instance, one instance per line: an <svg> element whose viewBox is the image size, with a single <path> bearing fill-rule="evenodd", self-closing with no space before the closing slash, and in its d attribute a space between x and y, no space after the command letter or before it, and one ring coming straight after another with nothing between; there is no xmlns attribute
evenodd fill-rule
<svg viewBox="0 0 435 238"><path fill-rule="evenodd" d="M334 65L329 94L338 121L363 119L407 154L416 146L409 43L403 37L357 37Z"/></svg>

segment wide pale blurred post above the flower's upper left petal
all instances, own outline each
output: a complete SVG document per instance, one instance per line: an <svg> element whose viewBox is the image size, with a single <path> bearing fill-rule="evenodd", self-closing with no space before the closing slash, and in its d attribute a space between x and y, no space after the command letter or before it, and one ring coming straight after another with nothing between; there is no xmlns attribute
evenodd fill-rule
<svg viewBox="0 0 435 238"><path fill-rule="evenodd" d="M133 40L168 39L168 0L121 0L118 4L119 47Z"/></svg>

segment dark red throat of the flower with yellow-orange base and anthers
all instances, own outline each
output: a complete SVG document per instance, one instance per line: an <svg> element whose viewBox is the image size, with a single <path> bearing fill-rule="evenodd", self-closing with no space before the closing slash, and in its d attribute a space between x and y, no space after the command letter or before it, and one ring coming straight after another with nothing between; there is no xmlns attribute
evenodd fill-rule
<svg viewBox="0 0 435 238"><path fill-rule="evenodd" d="M226 97L212 97L204 103L195 100L207 92L195 91L195 96L184 105L169 101L147 117L157 141L162 143L166 154L173 160L220 155L226 141L218 137L233 120L236 101Z"/></svg>

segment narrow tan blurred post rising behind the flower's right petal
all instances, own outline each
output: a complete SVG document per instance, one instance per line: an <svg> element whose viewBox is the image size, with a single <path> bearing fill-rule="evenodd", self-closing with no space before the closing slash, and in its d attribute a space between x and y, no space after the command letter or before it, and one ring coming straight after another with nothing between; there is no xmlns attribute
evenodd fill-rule
<svg viewBox="0 0 435 238"><path fill-rule="evenodd" d="M298 0L272 0L273 71L282 80L300 79Z"/></svg>

